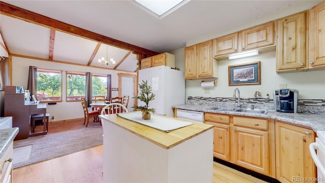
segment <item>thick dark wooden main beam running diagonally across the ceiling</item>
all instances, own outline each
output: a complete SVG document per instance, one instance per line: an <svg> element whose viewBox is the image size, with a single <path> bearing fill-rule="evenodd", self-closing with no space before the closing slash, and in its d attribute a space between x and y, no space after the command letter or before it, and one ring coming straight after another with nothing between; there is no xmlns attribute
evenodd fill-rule
<svg viewBox="0 0 325 183"><path fill-rule="evenodd" d="M75 36L79 36L85 39L89 39L92 41L97 41L101 43L105 43L111 46L115 46L122 49L127 49L133 51L135 54L144 54L147 56L153 56L159 54L157 52L141 48L132 44L128 44L122 41L115 40L113 38L109 38L100 34L96 34L86 29L79 28L67 23L63 23L61 21L37 14L35 12L31 12L4 2L0 1L0 13L3 15L7 15L10 17L14 17L20 20L24 20L27 22L35 23L38 25L42 25L48 28L56 29L57 31L65 32L68 34L73 34Z"/></svg>

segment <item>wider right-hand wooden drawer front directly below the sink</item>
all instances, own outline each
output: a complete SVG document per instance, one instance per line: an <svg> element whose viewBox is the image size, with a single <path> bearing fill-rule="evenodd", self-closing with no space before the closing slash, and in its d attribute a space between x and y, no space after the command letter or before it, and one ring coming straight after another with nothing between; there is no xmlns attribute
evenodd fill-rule
<svg viewBox="0 0 325 183"><path fill-rule="evenodd" d="M268 130L268 120L267 119L256 119L256 118L234 116L233 124L236 126Z"/></svg>

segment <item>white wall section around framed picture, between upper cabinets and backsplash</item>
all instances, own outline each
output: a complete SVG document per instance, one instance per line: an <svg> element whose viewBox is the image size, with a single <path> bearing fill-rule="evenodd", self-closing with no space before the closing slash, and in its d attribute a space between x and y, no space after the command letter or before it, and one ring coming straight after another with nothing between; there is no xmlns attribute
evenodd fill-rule
<svg viewBox="0 0 325 183"><path fill-rule="evenodd" d="M228 66L261 61L261 85L229 86ZM255 91L259 91L262 97L266 94L273 99L273 91L279 88L279 84L287 84L288 88L298 89L300 99L325 99L325 71L309 71L300 73L277 74L275 72L275 51L256 56L234 59L213 60L219 62L219 78L217 86L210 87L210 94L205 94L205 88L200 83L212 81L211 79L186 80L187 97L233 97L236 87L240 90L241 98L252 98Z"/></svg>

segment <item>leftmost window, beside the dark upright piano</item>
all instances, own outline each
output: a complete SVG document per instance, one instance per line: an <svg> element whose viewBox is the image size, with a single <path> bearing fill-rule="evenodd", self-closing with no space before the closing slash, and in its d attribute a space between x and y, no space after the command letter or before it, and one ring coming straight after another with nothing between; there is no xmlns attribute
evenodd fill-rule
<svg viewBox="0 0 325 183"><path fill-rule="evenodd" d="M44 102L61 101L62 72L37 69L37 99Z"/></svg>

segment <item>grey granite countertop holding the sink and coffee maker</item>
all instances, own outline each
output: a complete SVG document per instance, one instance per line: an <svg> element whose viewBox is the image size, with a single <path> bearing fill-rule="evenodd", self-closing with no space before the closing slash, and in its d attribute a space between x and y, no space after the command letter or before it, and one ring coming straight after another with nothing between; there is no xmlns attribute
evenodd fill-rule
<svg viewBox="0 0 325 183"><path fill-rule="evenodd" d="M209 110L208 108L211 107L213 106L191 105L191 104L173 106L173 108L177 108L177 109L193 110L193 111L200 111L200 112L212 112L212 113L220 113L220 114L232 114L232 115L278 119L292 124L298 124L298 125L310 127L316 133L317 130L325 131L325 114L280 113L280 112L275 112L274 110L273 111L269 110L267 114L257 114L257 113L246 113L246 112L236 112L236 111Z"/></svg>

